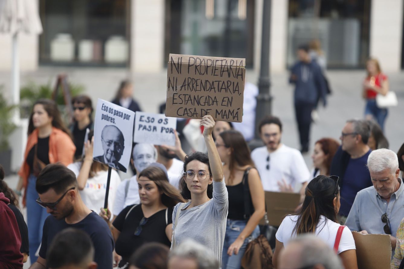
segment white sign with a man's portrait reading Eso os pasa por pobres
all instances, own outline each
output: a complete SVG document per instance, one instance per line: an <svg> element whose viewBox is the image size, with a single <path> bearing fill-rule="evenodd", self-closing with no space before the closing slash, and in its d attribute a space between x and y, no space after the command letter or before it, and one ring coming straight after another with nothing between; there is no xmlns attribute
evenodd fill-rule
<svg viewBox="0 0 404 269"><path fill-rule="evenodd" d="M135 112L98 99L93 159L126 173L132 152Z"/></svg>

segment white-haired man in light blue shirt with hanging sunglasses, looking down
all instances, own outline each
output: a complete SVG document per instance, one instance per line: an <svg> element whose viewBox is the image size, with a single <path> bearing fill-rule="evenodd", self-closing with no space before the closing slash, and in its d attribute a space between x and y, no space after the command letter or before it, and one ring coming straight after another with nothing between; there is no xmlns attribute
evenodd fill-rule
<svg viewBox="0 0 404 269"><path fill-rule="evenodd" d="M397 154L385 148L372 151L368 169L373 186L358 192L345 225L362 234L389 234L394 250L404 217L404 186L398 177Z"/></svg>

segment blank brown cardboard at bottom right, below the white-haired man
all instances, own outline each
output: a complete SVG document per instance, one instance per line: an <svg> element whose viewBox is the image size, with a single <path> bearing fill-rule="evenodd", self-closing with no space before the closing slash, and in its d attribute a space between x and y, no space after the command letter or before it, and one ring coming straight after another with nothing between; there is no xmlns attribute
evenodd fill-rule
<svg viewBox="0 0 404 269"><path fill-rule="evenodd" d="M353 231L352 235L358 269L390 268L391 242L388 234L361 234Z"/></svg>

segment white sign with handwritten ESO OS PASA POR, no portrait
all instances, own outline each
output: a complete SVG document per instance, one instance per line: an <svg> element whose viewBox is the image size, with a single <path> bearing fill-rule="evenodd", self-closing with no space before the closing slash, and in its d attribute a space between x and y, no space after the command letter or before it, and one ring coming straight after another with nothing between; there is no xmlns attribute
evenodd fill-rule
<svg viewBox="0 0 404 269"><path fill-rule="evenodd" d="M163 114L137 112L133 142L175 146L177 119Z"/></svg>

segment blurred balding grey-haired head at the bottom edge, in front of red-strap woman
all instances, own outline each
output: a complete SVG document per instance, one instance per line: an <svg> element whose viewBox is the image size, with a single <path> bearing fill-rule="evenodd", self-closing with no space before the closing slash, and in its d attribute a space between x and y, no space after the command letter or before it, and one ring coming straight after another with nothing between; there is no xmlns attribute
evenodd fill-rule
<svg viewBox="0 0 404 269"><path fill-rule="evenodd" d="M277 269L343 269L335 252L320 238L305 234L291 240L279 254Z"/></svg>

